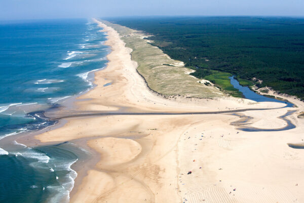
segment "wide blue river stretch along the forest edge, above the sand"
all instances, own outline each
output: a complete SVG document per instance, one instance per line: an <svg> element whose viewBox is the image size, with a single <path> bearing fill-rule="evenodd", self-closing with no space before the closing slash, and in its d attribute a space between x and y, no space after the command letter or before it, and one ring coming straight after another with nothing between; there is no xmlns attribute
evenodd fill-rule
<svg viewBox="0 0 304 203"><path fill-rule="evenodd" d="M234 88L236 88L240 92L242 92L242 94L245 98L248 98L250 100L257 101L257 102L269 101L269 102L283 103L283 104L286 104L286 106L284 108L294 106L292 103L290 103L288 101L282 101L279 99L270 98L267 96L257 94L254 91L252 91L251 89L249 89L249 87L244 87L244 86L240 85L239 81L237 81L234 78L234 76L229 77L229 79L230 79L230 83L234 86Z"/></svg>

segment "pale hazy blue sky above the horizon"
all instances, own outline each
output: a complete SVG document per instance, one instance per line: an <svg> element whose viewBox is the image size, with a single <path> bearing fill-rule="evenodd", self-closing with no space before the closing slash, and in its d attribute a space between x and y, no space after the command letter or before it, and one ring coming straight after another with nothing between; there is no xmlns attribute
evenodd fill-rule
<svg viewBox="0 0 304 203"><path fill-rule="evenodd" d="M0 0L0 20L153 15L304 16L304 0Z"/></svg>

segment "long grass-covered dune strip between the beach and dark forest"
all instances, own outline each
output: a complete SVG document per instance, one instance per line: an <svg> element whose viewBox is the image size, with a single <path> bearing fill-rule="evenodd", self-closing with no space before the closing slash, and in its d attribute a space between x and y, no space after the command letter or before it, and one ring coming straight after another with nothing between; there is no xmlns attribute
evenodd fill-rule
<svg viewBox="0 0 304 203"><path fill-rule="evenodd" d="M223 87L224 91L216 86L199 83L200 79L189 75L193 70L186 68L183 62L171 59L158 47L152 46L150 41L144 39L147 36L141 31L107 21L103 23L118 31L126 47L133 50L131 56L132 60L138 63L137 71L152 90L165 95L214 98L227 96L225 92L230 93L230 88L233 88L229 85L227 74L215 74L213 78L210 77L222 82L224 85L220 87ZM226 79L223 79L225 76Z"/></svg>

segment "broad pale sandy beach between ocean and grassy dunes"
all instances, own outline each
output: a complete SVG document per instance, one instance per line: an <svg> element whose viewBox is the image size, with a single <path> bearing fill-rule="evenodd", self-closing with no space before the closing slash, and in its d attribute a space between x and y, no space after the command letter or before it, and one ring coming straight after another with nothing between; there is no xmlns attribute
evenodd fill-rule
<svg viewBox="0 0 304 203"><path fill-rule="evenodd" d="M106 69L95 72L96 87L78 97L74 111L62 111L62 127L34 138L43 144L69 141L94 152L78 171L70 202L304 202L304 103L255 103L234 97L164 98L150 91L136 72L132 49L119 33L95 19L111 48ZM104 86L105 84L108 84ZM277 108L277 109L275 109ZM160 113L233 113L165 115ZM269 109L269 110L254 110ZM284 131L243 131L232 125ZM108 112L108 115L92 115ZM110 113L155 113L110 115ZM88 114L71 117L69 115ZM237 115L236 115L237 114ZM93 164L94 163L94 164Z"/></svg>

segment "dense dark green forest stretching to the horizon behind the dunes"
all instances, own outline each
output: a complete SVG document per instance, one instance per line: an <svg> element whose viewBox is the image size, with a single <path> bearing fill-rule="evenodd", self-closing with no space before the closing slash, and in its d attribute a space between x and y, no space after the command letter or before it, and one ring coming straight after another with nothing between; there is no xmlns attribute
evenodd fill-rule
<svg viewBox="0 0 304 203"><path fill-rule="evenodd" d="M242 85L262 80L304 99L304 18L124 17L106 19L153 35L153 45L196 70L236 75ZM221 77L223 74L219 74ZM213 80L213 82L216 82ZM220 85L220 84L219 84Z"/></svg>

